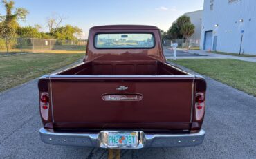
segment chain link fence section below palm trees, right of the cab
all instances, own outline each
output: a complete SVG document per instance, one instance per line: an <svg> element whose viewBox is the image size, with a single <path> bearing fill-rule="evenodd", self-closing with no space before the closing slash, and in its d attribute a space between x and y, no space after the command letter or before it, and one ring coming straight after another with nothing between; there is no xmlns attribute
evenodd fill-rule
<svg viewBox="0 0 256 159"><path fill-rule="evenodd" d="M171 46L172 43L177 43L179 48L198 48L200 47L200 39L173 39L163 40L163 46Z"/></svg>

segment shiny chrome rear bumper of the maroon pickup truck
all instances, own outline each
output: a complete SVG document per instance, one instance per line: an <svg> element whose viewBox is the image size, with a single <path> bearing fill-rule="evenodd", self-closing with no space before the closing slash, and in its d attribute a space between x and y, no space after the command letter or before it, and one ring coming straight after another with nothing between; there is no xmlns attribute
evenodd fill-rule
<svg viewBox="0 0 256 159"><path fill-rule="evenodd" d="M39 130L41 140L46 144L104 147L100 143L100 133L55 133L48 129ZM205 131L190 134L147 134L141 133L142 141L138 147L115 147L115 149L141 149L147 147L192 147L203 142Z"/></svg>

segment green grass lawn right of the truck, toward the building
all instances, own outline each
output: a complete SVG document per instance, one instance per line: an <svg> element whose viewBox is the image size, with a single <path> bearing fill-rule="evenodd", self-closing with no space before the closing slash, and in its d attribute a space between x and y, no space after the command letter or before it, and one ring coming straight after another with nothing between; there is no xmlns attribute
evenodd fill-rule
<svg viewBox="0 0 256 159"><path fill-rule="evenodd" d="M256 97L255 62L235 59L178 59L174 63Z"/></svg>

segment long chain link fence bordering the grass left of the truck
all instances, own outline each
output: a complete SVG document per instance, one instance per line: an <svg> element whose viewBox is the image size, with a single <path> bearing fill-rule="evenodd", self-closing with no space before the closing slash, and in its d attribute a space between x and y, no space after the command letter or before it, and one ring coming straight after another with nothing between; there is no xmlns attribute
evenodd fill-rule
<svg viewBox="0 0 256 159"><path fill-rule="evenodd" d="M0 38L0 54L85 51L86 40Z"/></svg>

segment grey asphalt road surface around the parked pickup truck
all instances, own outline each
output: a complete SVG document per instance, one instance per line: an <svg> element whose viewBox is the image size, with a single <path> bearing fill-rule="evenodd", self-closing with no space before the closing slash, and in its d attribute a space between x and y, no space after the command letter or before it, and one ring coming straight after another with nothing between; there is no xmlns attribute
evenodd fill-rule
<svg viewBox="0 0 256 159"><path fill-rule="evenodd" d="M256 98L206 77L205 141L198 147L121 150L121 158L255 158ZM107 149L39 139L37 79L0 93L0 158L107 158Z"/></svg>

